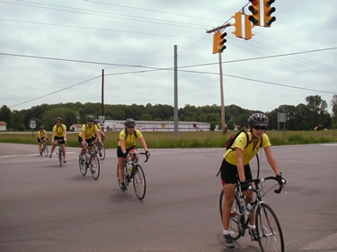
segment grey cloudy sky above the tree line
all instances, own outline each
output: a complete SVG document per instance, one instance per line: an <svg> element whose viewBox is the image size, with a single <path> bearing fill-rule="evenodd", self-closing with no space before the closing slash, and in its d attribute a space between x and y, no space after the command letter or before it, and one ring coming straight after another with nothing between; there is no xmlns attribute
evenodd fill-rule
<svg viewBox="0 0 337 252"><path fill-rule="evenodd" d="M248 1L0 1L0 106L104 102L220 105L212 34ZM270 111L337 93L335 1L276 0L277 21L238 39L226 28L225 105ZM330 111L331 109L329 109Z"/></svg>

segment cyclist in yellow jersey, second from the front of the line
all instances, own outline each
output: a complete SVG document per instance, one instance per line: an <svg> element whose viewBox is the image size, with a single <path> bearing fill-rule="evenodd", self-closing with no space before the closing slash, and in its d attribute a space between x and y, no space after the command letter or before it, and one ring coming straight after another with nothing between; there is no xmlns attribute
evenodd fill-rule
<svg viewBox="0 0 337 252"><path fill-rule="evenodd" d="M125 121L124 129L120 131L119 143L117 148L117 157L119 161L119 177L120 189L123 191L127 189L124 182L124 165L128 153L137 153L136 140L142 144L146 156L150 157L150 152L147 150L146 141L142 133L135 128L136 122L133 118L128 118Z"/></svg>

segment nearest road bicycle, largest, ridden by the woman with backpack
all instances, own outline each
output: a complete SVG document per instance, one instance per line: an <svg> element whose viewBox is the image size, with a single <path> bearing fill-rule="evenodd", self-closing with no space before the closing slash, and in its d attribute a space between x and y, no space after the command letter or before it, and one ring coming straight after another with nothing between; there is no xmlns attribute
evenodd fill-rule
<svg viewBox="0 0 337 252"><path fill-rule="evenodd" d="M252 216L255 218L256 233L259 246L262 252L284 252L284 239L279 220L276 213L272 210L269 204L266 204L262 197L265 196L273 187L270 187L266 192L263 192L262 183L267 180L277 180L276 177L254 178L247 180L253 183L254 187L249 187L255 195L253 202L249 204L250 210L245 209L244 195L242 194L240 183L235 184L235 201L232 205L230 213L229 230L233 239L244 237L245 230L249 229L249 223ZM285 182L285 181L284 181ZM279 188L274 192L279 194L284 185L279 185ZM224 202L224 192L221 190L219 197L219 210L222 221L222 207ZM255 213L255 214L253 214ZM251 233L253 240L253 233Z"/></svg>

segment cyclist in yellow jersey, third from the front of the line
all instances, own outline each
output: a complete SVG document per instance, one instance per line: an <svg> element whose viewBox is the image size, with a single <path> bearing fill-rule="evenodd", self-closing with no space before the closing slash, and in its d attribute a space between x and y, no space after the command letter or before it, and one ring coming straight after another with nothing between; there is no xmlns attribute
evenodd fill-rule
<svg viewBox="0 0 337 252"><path fill-rule="evenodd" d="M97 126L93 124L93 120L93 116L86 117L86 123L84 126L82 126L82 130L78 135L78 143L80 143L82 146L80 152L80 158L82 159L85 148L88 148L88 146L93 143L93 135L96 136L98 143L102 143L100 131L98 130Z"/></svg>

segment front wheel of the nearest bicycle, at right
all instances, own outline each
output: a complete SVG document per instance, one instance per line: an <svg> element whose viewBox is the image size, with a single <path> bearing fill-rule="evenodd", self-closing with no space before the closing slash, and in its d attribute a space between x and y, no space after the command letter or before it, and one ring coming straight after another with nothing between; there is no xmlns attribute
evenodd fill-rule
<svg viewBox="0 0 337 252"><path fill-rule="evenodd" d="M279 220L268 204L258 205L255 225L262 252L284 252L284 240Z"/></svg>

